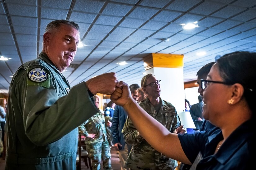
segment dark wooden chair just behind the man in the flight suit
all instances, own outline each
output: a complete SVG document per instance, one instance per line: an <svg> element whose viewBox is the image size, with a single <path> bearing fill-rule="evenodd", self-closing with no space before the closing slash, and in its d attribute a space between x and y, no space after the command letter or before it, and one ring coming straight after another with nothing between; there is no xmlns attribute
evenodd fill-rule
<svg viewBox="0 0 256 170"><path fill-rule="evenodd" d="M87 168L92 170L91 159L88 157L88 152L85 149L82 149L82 136L79 134L78 141L78 154L76 155L76 166L77 170L81 170L81 160L83 159ZM87 162L88 159L88 162Z"/></svg>

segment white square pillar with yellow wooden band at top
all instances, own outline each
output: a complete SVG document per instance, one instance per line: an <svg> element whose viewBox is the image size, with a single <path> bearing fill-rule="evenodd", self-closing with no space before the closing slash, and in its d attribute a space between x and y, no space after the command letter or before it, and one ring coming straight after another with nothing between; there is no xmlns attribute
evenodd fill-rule
<svg viewBox="0 0 256 170"><path fill-rule="evenodd" d="M162 81L160 97L172 103L177 111L185 110L183 55L151 53L143 61L146 74L152 73Z"/></svg>

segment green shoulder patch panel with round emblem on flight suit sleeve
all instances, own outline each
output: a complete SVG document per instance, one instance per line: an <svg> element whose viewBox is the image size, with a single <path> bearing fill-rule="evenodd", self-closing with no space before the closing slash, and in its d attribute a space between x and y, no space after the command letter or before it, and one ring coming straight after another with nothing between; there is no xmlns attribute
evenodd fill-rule
<svg viewBox="0 0 256 170"><path fill-rule="evenodd" d="M50 75L43 68L32 68L28 71L27 85L39 85L46 88L50 87Z"/></svg>

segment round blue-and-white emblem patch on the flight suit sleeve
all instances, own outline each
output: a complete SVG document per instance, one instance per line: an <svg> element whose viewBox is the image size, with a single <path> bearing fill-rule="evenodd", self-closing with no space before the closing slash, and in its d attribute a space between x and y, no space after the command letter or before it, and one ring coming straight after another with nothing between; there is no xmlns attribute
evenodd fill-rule
<svg viewBox="0 0 256 170"><path fill-rule="evenodd" d="M28 77L32 81L43 82L47 80L48 75L42 68L33 68L29 71Z"/></svg>

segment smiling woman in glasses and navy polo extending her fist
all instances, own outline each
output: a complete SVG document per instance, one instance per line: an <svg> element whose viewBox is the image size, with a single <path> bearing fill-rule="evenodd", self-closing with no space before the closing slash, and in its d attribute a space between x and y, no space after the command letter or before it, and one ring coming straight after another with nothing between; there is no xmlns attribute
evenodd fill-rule
<svg viewBox="0 0 256 170"><path fill-rule="evenodd" d="M195 134L174 134L132 100L128 85L117 83L111 100L127 111L138 132L169 158L192 169L251 169L255 145L256 53L225 54L212 66L204 90L203 117L216 128ZM147 128L145 128L147 127Z"/></svg>

